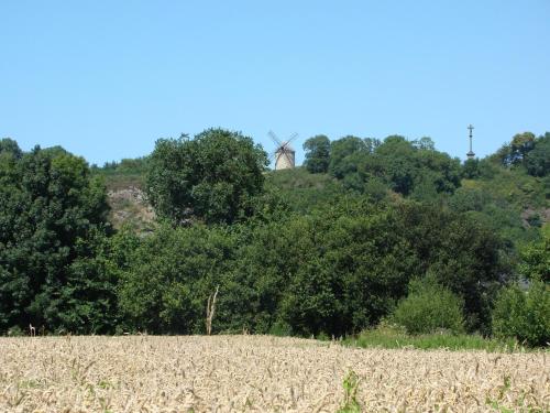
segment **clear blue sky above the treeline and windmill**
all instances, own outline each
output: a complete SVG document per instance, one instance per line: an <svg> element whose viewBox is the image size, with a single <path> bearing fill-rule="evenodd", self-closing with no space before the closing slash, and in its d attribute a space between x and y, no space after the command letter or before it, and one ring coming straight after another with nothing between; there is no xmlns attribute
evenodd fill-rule
<svg viewBox="0 0 550 413"><path fill-rule="evenodd" d="M431 137L465 157L550 130L550 0L2 1L0 137L90 163L240 130Z"/></svg>

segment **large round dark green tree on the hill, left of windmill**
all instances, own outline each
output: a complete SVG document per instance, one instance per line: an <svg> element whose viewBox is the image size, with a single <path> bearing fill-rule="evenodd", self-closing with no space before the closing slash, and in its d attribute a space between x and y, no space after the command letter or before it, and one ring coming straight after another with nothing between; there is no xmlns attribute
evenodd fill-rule
<svg viewBox="0 0 550 413"><path fill-rule="evenodd" d="M146 193L160 217L231 224L253 214L267 156L251 138L208 129L193 140L158 140L148 163Z"/></svg>

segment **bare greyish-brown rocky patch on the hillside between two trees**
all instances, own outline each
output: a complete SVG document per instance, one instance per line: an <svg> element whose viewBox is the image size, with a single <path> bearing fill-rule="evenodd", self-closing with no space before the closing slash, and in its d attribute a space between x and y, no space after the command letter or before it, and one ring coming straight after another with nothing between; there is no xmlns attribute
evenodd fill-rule
<svg viewBox="0 0 550 413"><path fill-rule="evenodd" d="M108 193L111 206L111 222L114 228L123 224L131 225L139 230L147 230L155 219L155 211L147 203L145 194L136 186L110 189Z"/></svg>

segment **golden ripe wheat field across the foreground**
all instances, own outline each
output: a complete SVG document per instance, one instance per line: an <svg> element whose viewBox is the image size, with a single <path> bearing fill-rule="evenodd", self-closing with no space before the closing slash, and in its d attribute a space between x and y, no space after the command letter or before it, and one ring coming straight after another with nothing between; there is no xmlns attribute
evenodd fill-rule
<svg viewBox="0 0 550 413"><path fill-rule="evenodd" d="M0 338L0 412L549 411L549 355L264 336Z"/></svg>

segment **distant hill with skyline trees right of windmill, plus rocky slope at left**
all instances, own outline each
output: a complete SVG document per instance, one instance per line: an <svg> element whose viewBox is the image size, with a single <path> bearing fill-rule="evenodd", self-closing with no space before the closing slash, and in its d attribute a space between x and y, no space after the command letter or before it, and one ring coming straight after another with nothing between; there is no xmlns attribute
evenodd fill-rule
<svg viewBox="0 0 550 413"><path fill-rule="evenodd" d="M515 140L525 140L525 135L516 135ZM547 133L538 140L546 144L549 139ZM486 159L460 164L436 151L429 139L408 142L389 137L383 143L369 140L365 142L371 149L365 151L359 138L346 137L331 143L327 172L309 172L306 159L306 166L266 172L265 187L296 214L308 214L344 195L369 196L373 202L410 197L436 203L488 222L512 243L522 243L537 239L538 229L550 220L550 175L544 154L538 154L542 170L536 170L535 175L527 155L514 157L516 141ZM154 225L155 215L145 196L146 170L147 156L92 167L105 178L116 228L125 224L147 230ZM404 189L407 176L409 186ZM447 186L441 187L440 182Z"/></svg>

